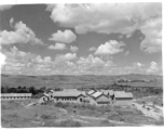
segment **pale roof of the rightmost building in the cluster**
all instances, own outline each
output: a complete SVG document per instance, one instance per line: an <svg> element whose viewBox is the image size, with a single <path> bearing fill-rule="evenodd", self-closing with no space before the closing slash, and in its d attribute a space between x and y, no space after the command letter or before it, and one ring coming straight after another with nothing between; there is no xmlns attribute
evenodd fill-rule
<svg viewBox="0 0 164 130"><path fill-rule="evenodd" d="M133 98L132 92L125 92L125 91L114 91L115 98Z"/></svg>

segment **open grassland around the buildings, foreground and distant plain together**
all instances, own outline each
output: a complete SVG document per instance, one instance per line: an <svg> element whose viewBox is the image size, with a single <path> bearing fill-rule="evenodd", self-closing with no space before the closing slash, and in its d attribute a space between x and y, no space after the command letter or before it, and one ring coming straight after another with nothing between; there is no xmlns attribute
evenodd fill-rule
<svg viewBox="0 0 164 130"><path fill-rule="evenodd" d="M5 88L35 87L47 88L106 88L120 78L129 80L152 80L150 82L121 82L117 89L131 91L134 94L134 106L96 107L86 104L49 103L29 105L38 99L28 101L2 101L2 127L112 127L112 126L161 126L163 89L161 76L122 75L122 76L10 76L2 75L1 82ZM154 80L155 79L155 80ZM119 82L120 83L120 82ZM131 83L131 87L124 87ZM122 86L123 84L123 86ZM128 84L129 86L129 84ZM147 87L147 88L145 88ZM158 89L158 90L156 90ZM38 94L35 96L37 98ZM153 109L142 105L153 102Z"/></svg>

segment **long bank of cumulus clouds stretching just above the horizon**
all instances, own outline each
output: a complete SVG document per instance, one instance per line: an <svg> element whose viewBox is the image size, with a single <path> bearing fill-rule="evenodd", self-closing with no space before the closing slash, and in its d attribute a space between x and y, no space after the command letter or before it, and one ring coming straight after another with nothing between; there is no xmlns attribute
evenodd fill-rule
<svg viewBox="0 0 164 130"><path fill-rule="evenodd" d="M2 56L1 56L2 53ZM1 49L0 57L3 74L23 75L121 75L121 74L161 74L162 67L158 63L142 64L136 62L128 66L117 66L111 60L90 54L78 57L76 53L42 57L39 54L24 52L13 47L10 50Z"/></svg>

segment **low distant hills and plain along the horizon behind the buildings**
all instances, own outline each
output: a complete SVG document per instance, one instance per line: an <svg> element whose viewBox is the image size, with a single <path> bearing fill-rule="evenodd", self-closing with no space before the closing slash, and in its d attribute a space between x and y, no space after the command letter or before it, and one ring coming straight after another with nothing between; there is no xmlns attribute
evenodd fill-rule
<svg viewBox="0 0 164 130"><path fill-rule="evenodd" d="M132 87L163 87L163 76L129 74L120 76L95 75L51 75L51 76L25 76L1 75L1 86L36 88L81 88L101 84L128 84Z"/></svg>

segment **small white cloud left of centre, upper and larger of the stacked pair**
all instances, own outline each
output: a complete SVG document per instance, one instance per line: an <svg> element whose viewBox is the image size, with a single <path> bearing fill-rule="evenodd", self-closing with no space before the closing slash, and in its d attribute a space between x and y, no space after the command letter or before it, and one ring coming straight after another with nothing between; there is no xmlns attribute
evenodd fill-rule
<svg viewBox="0 0 164 130"><path fill-rule="evenodd" d="M49 38L49 40L66 42L66 43L70 43L76 39L77 36L69 29L66 29L65 31L57 30L57 32L52 35L52 38Z"/></svg>

